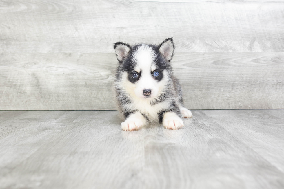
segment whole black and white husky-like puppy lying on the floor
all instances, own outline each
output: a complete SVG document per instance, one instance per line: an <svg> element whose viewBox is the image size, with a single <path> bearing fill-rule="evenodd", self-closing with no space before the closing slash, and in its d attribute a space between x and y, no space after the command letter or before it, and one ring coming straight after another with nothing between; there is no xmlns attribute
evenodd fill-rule
<svg viewBox="0 0 284 189"><path fill-rule="evenodd" d="M174 55L172 38L160 45L114 43L119 65L114 86L125 131L147 123L161 122L167 129L184 126L181 117L191 118L183 107L183 94L170 64Z"/></svg>

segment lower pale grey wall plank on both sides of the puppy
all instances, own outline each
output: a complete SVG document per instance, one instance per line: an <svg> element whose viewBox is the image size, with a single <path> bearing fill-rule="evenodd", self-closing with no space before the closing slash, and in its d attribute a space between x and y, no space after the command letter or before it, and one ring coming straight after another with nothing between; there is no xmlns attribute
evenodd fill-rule
<svg viewBox="0 0 284 189"><path fill-rule="evenodd" d="M2 53L1 110L116 109L114 53ZM110 61L108 61L110 60ZM284 107L284 53L176 53L188 109Z"/></svg>

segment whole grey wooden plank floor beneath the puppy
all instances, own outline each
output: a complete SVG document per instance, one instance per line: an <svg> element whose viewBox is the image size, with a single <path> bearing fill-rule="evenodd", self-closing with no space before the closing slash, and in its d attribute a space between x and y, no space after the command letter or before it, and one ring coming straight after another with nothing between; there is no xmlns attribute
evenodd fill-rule
<svg viewBox="0 0 284 189"><path fill-rule="evenodd" d="M284 109L192 113L126 132L117 111L0 111L0 188L284 188Z"/></svg>

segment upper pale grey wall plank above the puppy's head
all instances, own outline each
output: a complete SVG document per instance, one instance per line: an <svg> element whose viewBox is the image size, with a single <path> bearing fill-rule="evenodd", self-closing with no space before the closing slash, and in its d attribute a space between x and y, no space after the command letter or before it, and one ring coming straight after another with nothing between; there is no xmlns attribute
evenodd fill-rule
<svg viewBox="0 0 284 189"><path fill-rule="evenodd" d="M176 52L283 52L283 1L1 0L0 52L113 52L161 43Z"/></svg>

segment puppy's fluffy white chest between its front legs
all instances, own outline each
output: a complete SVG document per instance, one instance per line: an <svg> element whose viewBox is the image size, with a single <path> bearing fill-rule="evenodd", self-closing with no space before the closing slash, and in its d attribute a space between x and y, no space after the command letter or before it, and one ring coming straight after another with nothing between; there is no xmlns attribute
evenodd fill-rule
<svg viewBox="0 0 284 189"><path fill-rule="evenodd" d="M144 113L150 122L158 122L159 115L161 111L168 107L167 102L151 105L149 102L135 102L135 109L139 110L141 113Z"/></svg>

